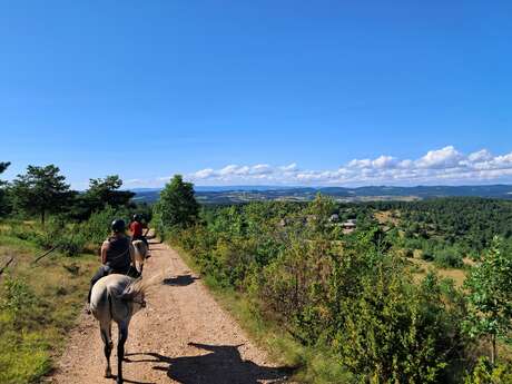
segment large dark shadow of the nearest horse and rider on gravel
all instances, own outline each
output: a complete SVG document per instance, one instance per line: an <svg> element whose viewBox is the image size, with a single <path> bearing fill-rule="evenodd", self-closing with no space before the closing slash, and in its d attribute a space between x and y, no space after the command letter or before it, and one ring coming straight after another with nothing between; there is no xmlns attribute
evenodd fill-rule
<svg viewBox="0 0 512 384"><path fill-rule="evenodd" d="M239 345L207 345L189 343L210 353L200 356L168 357L158 353L132 353L131 356L146 356L131 360L131 363L166 363L154 370L167 372L167 376L181 384L257 384L262 380L270 383L286 383L293 368L259 366L250 361L243 361ZM147 358L151 357L151 358Z"/></svg>

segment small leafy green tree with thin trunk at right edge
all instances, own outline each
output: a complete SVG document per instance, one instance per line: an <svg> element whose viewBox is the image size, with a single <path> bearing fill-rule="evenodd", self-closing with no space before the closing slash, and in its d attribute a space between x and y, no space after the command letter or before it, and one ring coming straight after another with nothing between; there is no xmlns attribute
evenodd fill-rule
<svg viewBox="0 0 512 384"><path fill-rule="evenodd" d="M501 252L498 237L464 285L469 291L466 329L472 337L489 337L495 364L496 341L512 331L512 254Z"/></svg>

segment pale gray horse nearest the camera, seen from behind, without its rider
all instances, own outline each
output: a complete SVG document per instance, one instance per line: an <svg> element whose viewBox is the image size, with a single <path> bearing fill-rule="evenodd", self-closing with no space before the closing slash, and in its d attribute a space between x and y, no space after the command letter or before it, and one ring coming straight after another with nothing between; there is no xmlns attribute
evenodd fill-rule
<svg viewBox="0 0 512 384"><path fill-rule="evenodd" d="M125 343L128 338L128 325L131 317L146 306L145 285L140 279L112 274L102 277L95 284L91 293L90 309L99 322L101 338L105 344L107 368L105 377L111 377L110 353L114 348L111 338L112 321L117 323L119 339L117 343L117 380L122 383L122 360Z"/></svg>

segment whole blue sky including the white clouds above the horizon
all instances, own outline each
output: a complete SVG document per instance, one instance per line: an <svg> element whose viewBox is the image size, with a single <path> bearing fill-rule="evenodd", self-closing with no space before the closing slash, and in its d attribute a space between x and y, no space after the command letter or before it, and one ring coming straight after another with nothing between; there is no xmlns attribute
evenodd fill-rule
<svg viewBox="0 0 512 384"><path fill-rule="evenodd" d="M510 14L510 1L0 0L2 176L53 163L76 188L175 173L512 183Z"/></svg>

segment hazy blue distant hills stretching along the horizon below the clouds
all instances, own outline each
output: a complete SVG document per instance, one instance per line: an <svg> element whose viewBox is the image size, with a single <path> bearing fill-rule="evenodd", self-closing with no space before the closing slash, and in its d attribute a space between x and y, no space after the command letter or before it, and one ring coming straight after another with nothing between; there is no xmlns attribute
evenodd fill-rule
<svg viewBox="0 0 512 384"><path fill-rule="evenodd" d="M279 186L197 186L196 196L203 204L238 204L255 200L296 200L306 201L317 193L332 196L342 201L367 200L412 200L435 197L473 196L488 198L512 199L512 186L416 186L390 187L370 186L357 188L345 187L279 187ZM160 188L131 189L136 193L135 200L155 203Z"/></svg>

